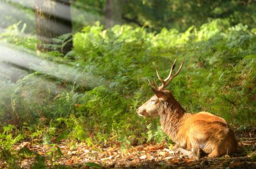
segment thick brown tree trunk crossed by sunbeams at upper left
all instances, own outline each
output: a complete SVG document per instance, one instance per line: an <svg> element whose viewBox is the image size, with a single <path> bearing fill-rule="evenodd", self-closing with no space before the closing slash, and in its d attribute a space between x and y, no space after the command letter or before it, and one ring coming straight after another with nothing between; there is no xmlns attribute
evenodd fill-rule
<svg viewBox="0 0 256 169"><path fill-rule="evenodd" d="M34 0L37 49L42 52L58 50L67 54L73 46L69 0ZM59 36L67 34L58 38Z"/></svg>

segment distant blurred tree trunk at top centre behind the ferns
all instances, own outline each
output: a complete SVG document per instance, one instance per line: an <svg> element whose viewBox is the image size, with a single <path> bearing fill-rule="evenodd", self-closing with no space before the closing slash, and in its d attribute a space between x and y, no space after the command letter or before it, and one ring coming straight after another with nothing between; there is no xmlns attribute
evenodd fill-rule
<svg viewBox="0 0 256 169"><path fill-rule="evenodd" d="M106 0L106 28L123 23L123 0Z"/></svg>

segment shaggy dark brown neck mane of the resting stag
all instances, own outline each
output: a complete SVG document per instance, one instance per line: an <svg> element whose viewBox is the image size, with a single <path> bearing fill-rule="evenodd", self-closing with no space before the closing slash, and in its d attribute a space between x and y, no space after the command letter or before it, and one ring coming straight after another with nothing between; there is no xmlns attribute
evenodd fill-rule
<svg viewBox="0 0 256 169"><path fill-rule="evenodd" d="M159 115L160 123L164 132L174 140L180 125L183 123L186 111L180 103L171 97L160 106Z"/></svg>

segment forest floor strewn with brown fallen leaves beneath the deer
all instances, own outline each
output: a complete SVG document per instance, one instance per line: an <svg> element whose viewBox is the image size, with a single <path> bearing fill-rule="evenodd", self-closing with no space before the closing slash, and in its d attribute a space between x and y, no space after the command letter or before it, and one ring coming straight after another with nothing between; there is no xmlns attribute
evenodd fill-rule
<svg viewBox="0 0 256 169"><path fill-rule="evenodd" d="M199 160L174 154L168 144L142 144L122 149L120 146L87 146L84 142L56 143L51 146L22 142L15 150L27 148L46 158L47 168L256 168L255 129L236 130L238 152L220 158L203 157ZM56 151L61 150L61 156ZM59 157L58 157L59 156ZM25 157L19 161L21 168L31 168L35 157ZM0 161L0 168L7 168Z"/></svg>

